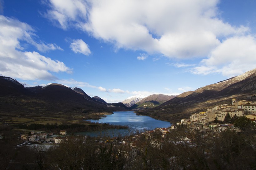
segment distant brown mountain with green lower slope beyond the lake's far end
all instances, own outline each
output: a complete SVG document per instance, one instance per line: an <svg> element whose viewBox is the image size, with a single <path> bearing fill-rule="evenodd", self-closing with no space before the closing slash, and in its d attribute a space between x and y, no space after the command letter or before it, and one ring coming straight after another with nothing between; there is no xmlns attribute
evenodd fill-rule
<svg viewBox="0 0 256 170"><path fill-rule="evenodd" d="M165 94L152 94L131 106L130 109L156 107L163 104L164 102L167 102L168 100L173 99L174 97L176 96L169 96Z"/></svg>

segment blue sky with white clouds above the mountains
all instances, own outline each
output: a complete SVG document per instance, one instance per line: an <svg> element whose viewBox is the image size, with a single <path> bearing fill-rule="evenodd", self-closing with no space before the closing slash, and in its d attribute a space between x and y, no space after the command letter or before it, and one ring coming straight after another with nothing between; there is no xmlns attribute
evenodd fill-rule
<svg viewBox="0 0 256 170"><path fill-rule="evenodd" d="M108 103L256 68L255 0L0 0L0 74Z"/></svg>

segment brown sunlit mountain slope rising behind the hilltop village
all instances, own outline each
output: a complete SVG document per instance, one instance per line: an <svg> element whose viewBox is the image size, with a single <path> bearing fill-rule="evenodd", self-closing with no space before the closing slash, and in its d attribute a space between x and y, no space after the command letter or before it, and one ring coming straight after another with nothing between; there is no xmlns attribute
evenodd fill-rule
<svg viewBox="0 0 256 170"><path fill-rule="evenodd" d="M256 100L256 69L227 80L184 92L155 108L137 113L170 122L189 118L192 113L206 111L220 104L230 104L231 99Z"/></svg>

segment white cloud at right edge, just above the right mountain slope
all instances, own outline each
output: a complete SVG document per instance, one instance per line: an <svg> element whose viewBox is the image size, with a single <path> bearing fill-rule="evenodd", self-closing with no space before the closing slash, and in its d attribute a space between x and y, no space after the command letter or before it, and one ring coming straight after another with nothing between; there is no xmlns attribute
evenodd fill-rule
<svg viewBox="0 0 256 170"><path fill-rule="evenodd" d="M217 46L201 66L191 70L194 74L222 73L233 77L256 68L256 39L253 36L236 36Z"/></svg>

